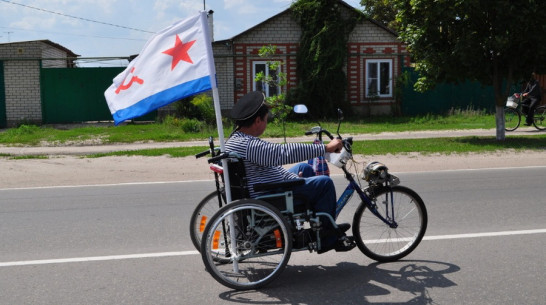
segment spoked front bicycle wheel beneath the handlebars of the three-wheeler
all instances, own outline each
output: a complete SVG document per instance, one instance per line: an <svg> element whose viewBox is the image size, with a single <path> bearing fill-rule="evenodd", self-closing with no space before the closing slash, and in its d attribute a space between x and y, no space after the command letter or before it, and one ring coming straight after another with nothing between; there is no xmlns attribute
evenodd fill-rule
<svg viewBox="0 0 546 305"><path fill-rule="evenodd" d="M421 197L403 186L373 190L377 212L396 226L374 215L362 202L353 219L353 234L362 253L379 262L392 262L410 254L427 229L427 210Z"/></svg>

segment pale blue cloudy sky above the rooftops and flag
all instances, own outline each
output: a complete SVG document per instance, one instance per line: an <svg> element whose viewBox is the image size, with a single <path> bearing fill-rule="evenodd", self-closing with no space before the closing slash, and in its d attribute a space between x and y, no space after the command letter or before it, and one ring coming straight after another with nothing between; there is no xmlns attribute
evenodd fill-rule
<svg viewBox="0 0 546 305"><path fill-rule="evenodd" d="M360 8L360 0L345 0ZM153 33L214 11L214 40L229 39L284 11L292 0L0 0L0 43L44 40L80 55L78 66L126 66ZM204 5L204 6L203 6Z"/></svg>

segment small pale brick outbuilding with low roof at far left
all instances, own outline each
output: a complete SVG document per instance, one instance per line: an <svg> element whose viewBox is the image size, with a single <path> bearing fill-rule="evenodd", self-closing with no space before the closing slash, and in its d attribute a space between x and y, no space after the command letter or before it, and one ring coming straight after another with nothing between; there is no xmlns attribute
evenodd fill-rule
<svg viewBox="0 0 546 305"><path fill-rule="evenodd" d="M42 123L40 69L73 67L78 56L49 40L0 44L0 127Z"/></svg>

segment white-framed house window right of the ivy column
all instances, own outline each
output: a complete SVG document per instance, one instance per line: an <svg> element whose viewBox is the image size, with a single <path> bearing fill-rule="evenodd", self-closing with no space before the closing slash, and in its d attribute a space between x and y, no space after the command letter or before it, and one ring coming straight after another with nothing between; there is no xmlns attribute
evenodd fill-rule
<svg viewBox="0 0 546 305"><path fill-rule="evenodd" d="M366 97L392 96L392 60L366 61Z"/></svg>

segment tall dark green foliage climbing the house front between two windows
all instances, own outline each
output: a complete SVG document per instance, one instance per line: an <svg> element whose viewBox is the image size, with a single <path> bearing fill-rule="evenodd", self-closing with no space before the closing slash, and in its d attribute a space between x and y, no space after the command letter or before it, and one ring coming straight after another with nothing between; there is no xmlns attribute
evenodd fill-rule
<svg viewBox="0 0 546 305"><path fill-rule="evenodd" d="M297 0L291 5L302 34L297 55L298 86L290 92L292 103L307 103L313 113L335 114L348 109L345 98L349 34L359 14L342 16L339 0Z"/></svg>

